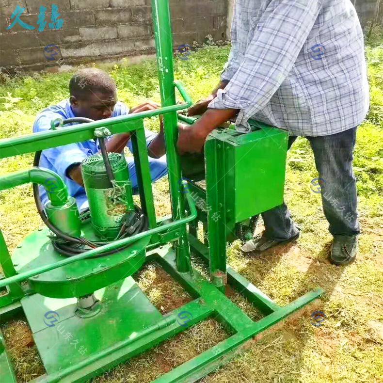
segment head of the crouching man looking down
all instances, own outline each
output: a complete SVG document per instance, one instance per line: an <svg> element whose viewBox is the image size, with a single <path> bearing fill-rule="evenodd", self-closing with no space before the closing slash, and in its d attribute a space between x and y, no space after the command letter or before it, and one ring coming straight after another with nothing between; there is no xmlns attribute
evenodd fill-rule
<svg viewBox="0 0 383 383"><path fill-rule="evenodd" d="M69 82L69 93L76 117L109 118L117 102L116 83L108 73L96 68L77 72Z"/></svg>

